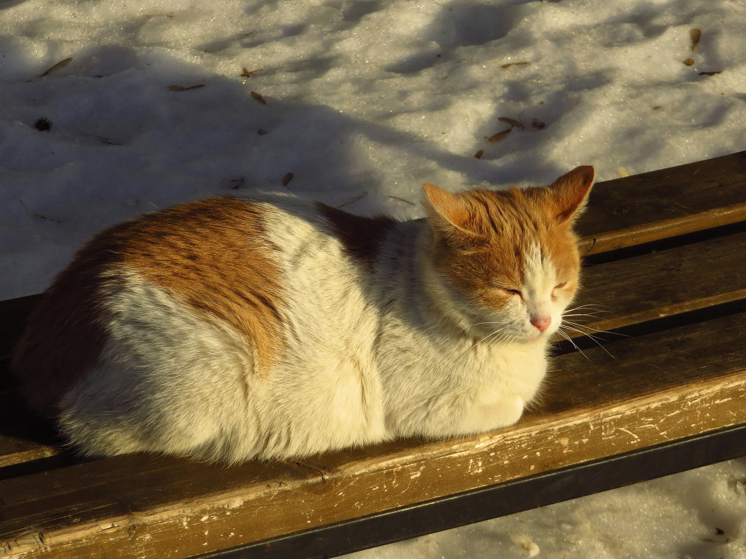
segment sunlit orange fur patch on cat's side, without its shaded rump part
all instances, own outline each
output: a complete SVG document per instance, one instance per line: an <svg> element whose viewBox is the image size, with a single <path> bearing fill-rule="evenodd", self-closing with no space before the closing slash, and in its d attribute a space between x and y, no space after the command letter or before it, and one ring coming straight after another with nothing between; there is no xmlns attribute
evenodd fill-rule
<svg viewBox="0 0 746 559"><path fill-rule="evenodd" d="M256 370L266 372L280 347L283 303L262 215L260 203L208 198L145 215L113 241L122 264L244 336Z"/></svg>

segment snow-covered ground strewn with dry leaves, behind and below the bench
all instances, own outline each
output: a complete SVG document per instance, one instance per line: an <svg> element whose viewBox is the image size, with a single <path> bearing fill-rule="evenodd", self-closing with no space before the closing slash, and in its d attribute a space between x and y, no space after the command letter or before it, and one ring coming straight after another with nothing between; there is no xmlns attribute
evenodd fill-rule
<svg viewBox="0 0 746 559"><path fill-rule="evenodd" d="M208 194L419 217L424 181L745 149L745 28L744 0L0 0L0 299ZM746 558L745 479L731 461L362 557Z"/></svg>

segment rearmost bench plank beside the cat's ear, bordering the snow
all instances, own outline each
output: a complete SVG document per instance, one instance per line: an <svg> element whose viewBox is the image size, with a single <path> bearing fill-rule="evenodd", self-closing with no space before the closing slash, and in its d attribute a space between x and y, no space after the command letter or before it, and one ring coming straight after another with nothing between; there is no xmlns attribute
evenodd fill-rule
<svg viewBox="0 0 746 559"><path fill-rule="evenodd" d="M578 229L585 254L629 247L746 219L745 152L606 180Z"/></svg>

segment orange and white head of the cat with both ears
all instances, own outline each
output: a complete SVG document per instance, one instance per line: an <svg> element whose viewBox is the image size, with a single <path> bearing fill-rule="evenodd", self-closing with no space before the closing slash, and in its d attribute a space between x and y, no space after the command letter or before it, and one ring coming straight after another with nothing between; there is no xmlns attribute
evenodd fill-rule
<svg viewBox="0 0 746 559"><path fill-rule="evenodd" d="M434 232L434 288L463 329L500 332L512 341L557 331L578 286L572 226L594 179L593 168L583 166L529 189L454 195L423 186Z"/></svg>

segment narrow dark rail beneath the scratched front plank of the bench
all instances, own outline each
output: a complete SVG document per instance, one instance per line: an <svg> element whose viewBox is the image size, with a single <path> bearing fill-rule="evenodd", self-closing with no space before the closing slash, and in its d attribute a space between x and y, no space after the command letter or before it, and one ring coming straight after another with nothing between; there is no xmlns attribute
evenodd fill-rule
<svg viewBox="0 0 746 559"><path fill-rule="evenodd" d="M709 431L560 470L480 487L269 540L200 559L320 559L407 540L746 455L746 424Z"/></svg>

